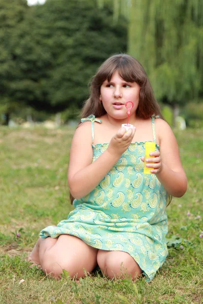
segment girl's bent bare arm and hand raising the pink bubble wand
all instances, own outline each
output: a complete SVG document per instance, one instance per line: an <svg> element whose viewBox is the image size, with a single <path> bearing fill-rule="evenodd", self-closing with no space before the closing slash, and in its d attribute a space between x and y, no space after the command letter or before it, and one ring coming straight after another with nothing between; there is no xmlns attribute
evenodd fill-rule
<svg viewBox="0 0 203 304"><path fill-rule="evenodd" d="M109 147L92 163L91 123L80 125L74 134L68 172L70 192L79 199L90 193L111 170L129 146L134 130L121 128L113 136Z"/></svg>

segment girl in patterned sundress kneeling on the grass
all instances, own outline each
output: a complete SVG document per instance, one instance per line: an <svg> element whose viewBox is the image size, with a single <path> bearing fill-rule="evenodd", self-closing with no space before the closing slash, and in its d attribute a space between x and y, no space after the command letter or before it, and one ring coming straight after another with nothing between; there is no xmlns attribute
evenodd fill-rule
<svg viewBox="0 0 203 304"><path fill-rule="evenodd" d="M125 103L132 101L127 132ZM166 197L181 197L187 179L178 145L142 65L118 54L107 59L91 82L73 137L69 187L75 209L40 233L29 260L60 277L83 277L96 265L107 277L153 279L167 256ZM158 119L159 118L159 119ZM146 141L156 149L146 162Z"/></svg>

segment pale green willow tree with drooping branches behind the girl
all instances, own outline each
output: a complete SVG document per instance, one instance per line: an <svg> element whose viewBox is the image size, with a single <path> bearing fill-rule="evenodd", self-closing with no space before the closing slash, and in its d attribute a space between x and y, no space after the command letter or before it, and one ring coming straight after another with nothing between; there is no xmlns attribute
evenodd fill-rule
<svg viewBox="0 0 203 304"><path fill-rule="evenodd" d="M202 0L131 0L128 52L174 111L203 94Z"/></svg>

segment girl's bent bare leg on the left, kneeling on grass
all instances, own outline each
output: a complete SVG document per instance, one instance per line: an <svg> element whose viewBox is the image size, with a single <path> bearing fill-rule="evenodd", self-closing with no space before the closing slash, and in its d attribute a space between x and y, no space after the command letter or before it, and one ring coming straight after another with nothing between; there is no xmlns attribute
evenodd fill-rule
<svg viewBox="0 0 203 304"><path fill-rule="evenodd" d="M77 237L60 235L40 241L38 260L45 274L59 278L64 269L70 277L80 278L97 265L97 251Z"/></svg>

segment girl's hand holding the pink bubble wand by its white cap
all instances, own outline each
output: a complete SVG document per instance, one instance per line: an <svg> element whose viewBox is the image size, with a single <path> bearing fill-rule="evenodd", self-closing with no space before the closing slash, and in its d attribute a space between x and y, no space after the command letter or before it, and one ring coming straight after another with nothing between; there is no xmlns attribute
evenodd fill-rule
<svg viewBox="0 0 203 304"><path fill-rule="evenodd" d="M120 128L109 143L107 149L109 153L120 157L128 148L135 132L136 127L133 127L133 129L130 128L127 132L125 128Z"/></svg>

